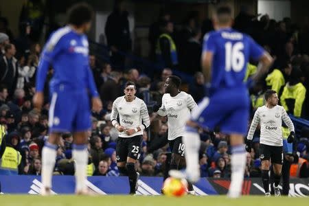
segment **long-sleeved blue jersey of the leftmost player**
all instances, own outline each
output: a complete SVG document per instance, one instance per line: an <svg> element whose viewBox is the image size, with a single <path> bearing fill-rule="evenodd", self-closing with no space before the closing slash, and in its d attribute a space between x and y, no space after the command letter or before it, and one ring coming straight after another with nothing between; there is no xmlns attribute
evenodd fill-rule
<svg viewBox="0 0 309 206"><path fill-rule="evenodd" d="M62 27L51 35L38 65L37 91L43 90L49 66L54 69L50 82L52 90L63 85L65 89L89 89L92 95L98 95L89 67L89 43L86 35L76 33L69 26Z"/></svg>

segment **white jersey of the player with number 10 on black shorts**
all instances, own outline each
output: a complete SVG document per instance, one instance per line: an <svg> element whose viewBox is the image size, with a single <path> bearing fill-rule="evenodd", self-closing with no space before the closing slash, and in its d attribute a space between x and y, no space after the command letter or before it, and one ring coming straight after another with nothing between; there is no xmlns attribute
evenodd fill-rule
<svg viewBox="0 0 309 206"><path fill-rule="evenodd" d="M181 91L174 97L165 93L158 115L168 116L168 140L183 136L185 123L190 118L190 112L196 106L190 94Z"/></svg>

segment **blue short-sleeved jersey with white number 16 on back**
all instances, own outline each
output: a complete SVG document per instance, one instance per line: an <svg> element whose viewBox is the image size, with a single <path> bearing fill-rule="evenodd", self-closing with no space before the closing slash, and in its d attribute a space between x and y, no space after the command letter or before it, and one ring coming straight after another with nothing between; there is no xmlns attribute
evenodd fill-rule
<svg viewBox="0 0 309 206"><path fill-rule="evenodd" d="M220 89L244 87L249 59L260 58L264 49L247 34L228 28L205 34L203 52L213 54L211 89Z"/></svg>

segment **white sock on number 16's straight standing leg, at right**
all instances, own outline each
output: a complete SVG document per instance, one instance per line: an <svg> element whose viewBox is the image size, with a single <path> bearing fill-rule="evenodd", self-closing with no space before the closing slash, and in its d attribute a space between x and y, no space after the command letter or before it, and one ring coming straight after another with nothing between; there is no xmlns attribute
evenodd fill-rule
<svg viewBox="0 0 309 206"><path fill-rule="evenodd" d="M231 185L229 185L228 194L231 198L238 198L241 195L246 162L247 152L244 150L244 146L233 146L231 155Z"/></svg>

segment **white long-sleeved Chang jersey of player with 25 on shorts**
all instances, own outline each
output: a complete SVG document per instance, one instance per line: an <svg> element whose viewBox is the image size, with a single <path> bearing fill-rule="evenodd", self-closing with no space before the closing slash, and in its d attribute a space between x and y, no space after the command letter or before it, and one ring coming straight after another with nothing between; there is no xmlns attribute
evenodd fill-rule
<svg viewBox="0 0 309 206"><path fill-rule="evenodd" d="M117 115L119 114L119 123L117 122ZM141 130L133 135L126 135L125 132L119 133L119 137L134 137L136 135L143 135L143 130L150 125L150 118L145 102L137 97L132 102L127 102L125 96L117 98L113 102L113 109L111 112L111 122L120 124L127 129L141 128Z"/></svg>

